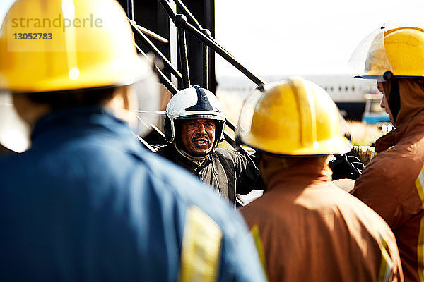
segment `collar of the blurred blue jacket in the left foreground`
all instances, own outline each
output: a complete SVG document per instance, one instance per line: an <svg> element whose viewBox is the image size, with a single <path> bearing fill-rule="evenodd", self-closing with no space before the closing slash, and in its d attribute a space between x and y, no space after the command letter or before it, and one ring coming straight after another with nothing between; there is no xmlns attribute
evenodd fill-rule
<svg viewBox="0 0 424 282"><path fill-rule="evenodd" d="M52 111L40 118L31 133L32 147L47 146L81 135L101 133L113 137L120 147L140 152L142 146L131 133L129 125L100 106L82 106ZM136 153L139 154L139 153Z"/></svg>

